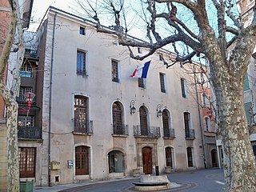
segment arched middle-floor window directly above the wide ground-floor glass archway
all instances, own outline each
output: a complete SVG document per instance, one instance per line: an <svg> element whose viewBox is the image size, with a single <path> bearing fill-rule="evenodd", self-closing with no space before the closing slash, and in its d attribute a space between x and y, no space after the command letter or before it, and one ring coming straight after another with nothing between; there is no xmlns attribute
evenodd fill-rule
<svg viewBox="0 0 256 192"><path fill-rule="evenodd" d="M113 133L124 134L122 122L122 105L120 102L114 102L112 106L113 114Z"/></svg>

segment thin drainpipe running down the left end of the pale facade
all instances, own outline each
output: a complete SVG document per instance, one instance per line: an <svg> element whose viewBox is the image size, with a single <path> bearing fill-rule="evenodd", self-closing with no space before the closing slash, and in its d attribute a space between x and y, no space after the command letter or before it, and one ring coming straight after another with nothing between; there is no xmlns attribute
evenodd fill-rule
<svg viewBox="0 0 256 192"><path fill-rule="evenodd" d="M50 183L50 137L51 137L51 93L52 93L52 84L53 84L53 66L54 66L54 36L55 36L55 25L56 25L56 16L57 13L54 14L54 28L53 28L53 38L52 38L52 49L51 49L51 58L50 58L50 91L49 91L49 134L48 134L48 186L51 186Z"/></svg>

